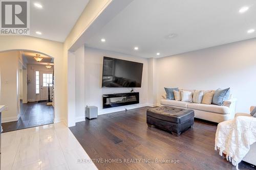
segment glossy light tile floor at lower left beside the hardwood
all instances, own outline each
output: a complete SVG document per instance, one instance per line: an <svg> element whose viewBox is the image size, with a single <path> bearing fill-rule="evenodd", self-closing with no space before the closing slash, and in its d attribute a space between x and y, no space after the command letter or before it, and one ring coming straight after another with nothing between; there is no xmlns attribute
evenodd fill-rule
<svg viewBox="0 0 256 170"><path fill-rule="evenodd" d="M97 169L63 123L2 133L1 149L1 170Z"/></svg>

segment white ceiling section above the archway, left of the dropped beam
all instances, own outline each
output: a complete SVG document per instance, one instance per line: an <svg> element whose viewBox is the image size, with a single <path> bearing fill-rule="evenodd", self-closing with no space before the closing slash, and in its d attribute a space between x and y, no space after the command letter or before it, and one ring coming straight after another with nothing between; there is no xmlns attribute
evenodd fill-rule
<svg viewBox="0 0 256 170"><path fill-rule="evenodd" d="M89 0L31 0L30 36L65 41ZM42 5L41 9L34 3ZM37 35L39 31L42 35Z"/></svg>

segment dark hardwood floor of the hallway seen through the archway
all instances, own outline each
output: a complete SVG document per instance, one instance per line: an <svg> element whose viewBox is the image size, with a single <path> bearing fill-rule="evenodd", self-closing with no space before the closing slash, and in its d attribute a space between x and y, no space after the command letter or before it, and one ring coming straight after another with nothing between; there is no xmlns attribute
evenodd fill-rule
<svg viewBox="0 0 256 170"><path fill-rule="evenodd" d="M54 108L47 103L20 103L20 117L18 121L3 123L3 133L35 126L53 124Z"/></svg>

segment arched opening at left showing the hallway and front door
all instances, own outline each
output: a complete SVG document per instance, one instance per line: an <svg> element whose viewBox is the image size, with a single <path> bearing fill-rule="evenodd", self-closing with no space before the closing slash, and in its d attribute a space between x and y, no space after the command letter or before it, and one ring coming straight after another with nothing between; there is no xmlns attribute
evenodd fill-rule
<svg viewBox="0 0 256 170"><path fill-rule="evenodd" d="M35 61L33 59L35 54L41 55L43 60ZM54 57L39 51L15 49L0 52L0 60L1 103L7 105L8 108L5 111L7 113L3 114L2 120L3 123L9 122L8 128L4 128L4 132L54 123L55 109L51 106L55 101ZM49 65L46 67L48 63ZM49 90L50 87L51 90ZM42 89L46 89L46 91L44 92ZM40 98L43 92L48 94L48 100L42 101ZM11 100L9 98L7 100L6 96L8 95ZM20 102L21 100L22 102ZM42 103L39 104L39 101ZM10 126L10 124L16 124L16 126ZM16 127L16 129L10 127Z"/></svg>

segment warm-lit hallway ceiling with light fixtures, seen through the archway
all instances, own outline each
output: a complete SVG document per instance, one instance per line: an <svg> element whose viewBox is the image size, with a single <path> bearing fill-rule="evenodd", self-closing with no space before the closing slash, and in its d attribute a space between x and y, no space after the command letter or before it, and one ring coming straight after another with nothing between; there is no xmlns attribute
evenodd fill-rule
<svg viewBox="0 0 256 170"><path fill-rule="evenodd" d="M49 64L53 65L54 59L45 54L35 53L35 52L31 52L31 51L20 51L20 53L22 54L23 57L25 57L27 59L27 61L28 61L27 64L47 65L49 63ZM40 62L37 62L33 58L36 56L36 54L39 54L40 57L43 58Z"/></svg>

